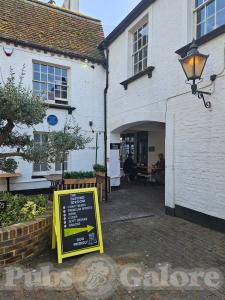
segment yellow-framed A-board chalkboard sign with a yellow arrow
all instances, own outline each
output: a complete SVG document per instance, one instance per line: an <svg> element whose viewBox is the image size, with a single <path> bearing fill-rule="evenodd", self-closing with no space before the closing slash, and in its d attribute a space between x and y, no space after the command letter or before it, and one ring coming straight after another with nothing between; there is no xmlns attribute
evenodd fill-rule
<svg viewBox="0 0 225 300"><path fill-rule="evenodd" d="M54 193L52 248L63 258L92 251L103 253L96 188Z"/></svg>

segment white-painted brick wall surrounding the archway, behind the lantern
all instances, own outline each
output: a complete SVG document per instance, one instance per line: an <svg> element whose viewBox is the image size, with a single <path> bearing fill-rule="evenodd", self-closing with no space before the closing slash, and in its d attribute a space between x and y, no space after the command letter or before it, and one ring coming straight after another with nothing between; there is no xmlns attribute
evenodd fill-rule
<svg viewBox="0 0 225 300"><path fill-rule="evenodd" d="M194 37L193 3L154 2L110 45L108 136L132 122L166 122L166 205L225 219L225 35L199 48L210 54L199 86L213 92L209 97L212 109L206 110L191 95L175 54ZM151 79L142 77L125 91L120 82L129 77L129 30L146 14L150 25L148 65L155 70ZM219 73L221 77L211 85L210 75ZM111 157L109 162L110 166L115 163Z"/></svg>

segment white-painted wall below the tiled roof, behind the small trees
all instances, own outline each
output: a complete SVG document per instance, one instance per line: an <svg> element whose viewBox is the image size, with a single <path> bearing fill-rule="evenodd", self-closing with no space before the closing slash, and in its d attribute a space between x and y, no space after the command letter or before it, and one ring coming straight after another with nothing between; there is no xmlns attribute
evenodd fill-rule
<svg viewBox="0 0 225 300"><path fill-rule="evenodd" d="M99 135L99 163L104 163L104 99L103 90L105 86L105 71L102 66L95 64L95 69L79 60L59 57L57 55L45 54L36 50L14 47L11 57L7 57L3 51L4 44L0 44L0 70L1 80L5 80L9 74L10 66L13 71L21 73L23 65L26 67L24 85L32 89L32 61L56 64L70 68L70 103L76 107L72 117L65 110L48 109L47 116L54 114L58 117L56 126L49 126L45 119L43 124L35 126L36 131L60 130L63 128L66 119L75 119L82 129L82 133L93 138L93 141L86 146L85 150L74 151L69 156L69 170L91 170L95 163L95 133L89 127L89 121L93 121L93 129L101 133ZM13 47L13 45L11 45ZM33 134L33 129L24 129L24 132ZM49 183L45 179L31 179L32 164L20 160L18 171L22 174L16 180L12 180L12 189L33 189L48 187ZM52 173L49 171L48 173ZM53 172L55 173L55 172ZM4 181L0 181L0 188L4 189Z"/></svg>

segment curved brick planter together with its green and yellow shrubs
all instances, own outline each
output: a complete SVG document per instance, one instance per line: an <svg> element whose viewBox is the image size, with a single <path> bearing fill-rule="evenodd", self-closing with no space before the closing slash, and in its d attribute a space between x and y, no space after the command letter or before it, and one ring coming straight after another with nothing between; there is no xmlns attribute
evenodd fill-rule
<svg viewBox="0 0 225 300"><path fill-rule="evenodd" d="M47 197L5 193L2 198L8 206L0 213L4 225L0 228L0 267L22 262L50 247L52 229L52 207Z"/></svg>

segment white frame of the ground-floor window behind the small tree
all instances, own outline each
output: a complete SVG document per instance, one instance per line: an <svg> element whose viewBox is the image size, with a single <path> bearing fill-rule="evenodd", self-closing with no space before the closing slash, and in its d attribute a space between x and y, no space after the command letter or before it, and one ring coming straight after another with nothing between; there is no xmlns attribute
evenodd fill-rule
<svg viewBox="0 0 225 300"><path fill-rule="evenodd" d="M40 131L34 131L33 133L33 136L35 134L39 134L41 136L41 141L43 142L43 136L47 136L48 135L48 132L40 132ZM33 167L32 167L32 170L33 170L33 175L34 176L44 176L44 175L48 175L49 173L54 173L54 174L61 174L62 173L62 164L61 164L61 167L60 169L57 168L58 166L58 163L53 163L53 164L50 164L50 167L45 170L45 171L35 171L34 170L34 165L35 163L33 163ZM41 164L38 164L38 165L41 165ZM65 161L64 161L64 170L65 171L68 171L69 170L69 154L67 153L66 154L66 157L65 157Z"/></svg>

